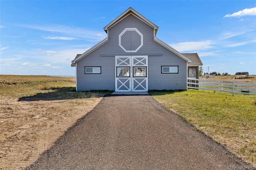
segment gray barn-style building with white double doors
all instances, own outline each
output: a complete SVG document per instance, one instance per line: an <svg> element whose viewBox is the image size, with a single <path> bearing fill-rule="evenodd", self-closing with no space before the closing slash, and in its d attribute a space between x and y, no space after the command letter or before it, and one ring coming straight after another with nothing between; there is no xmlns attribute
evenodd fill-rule
<svg viewBox="0 0 256 170"><path fill-rule="evenodd" d="M128 8L104 27L107 38L76 55L76 90L121 92L187 89L198 77L196 53L180 53L156 38L158 26Z"/></svg>

